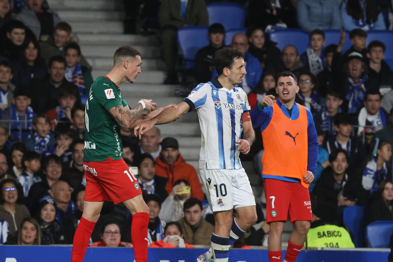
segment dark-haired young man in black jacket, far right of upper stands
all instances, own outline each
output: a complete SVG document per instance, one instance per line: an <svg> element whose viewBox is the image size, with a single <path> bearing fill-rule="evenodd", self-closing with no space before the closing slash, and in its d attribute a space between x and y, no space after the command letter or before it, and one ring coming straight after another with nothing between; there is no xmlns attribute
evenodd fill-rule
<svg viewBox="0 0 393 262"><path fill-rule="evenodd" d="M393 71L384 60L386 46L384 43L374 40L367 46L367 63L368 75L376 79L376 85L382 97L392 90Z"/></svg>

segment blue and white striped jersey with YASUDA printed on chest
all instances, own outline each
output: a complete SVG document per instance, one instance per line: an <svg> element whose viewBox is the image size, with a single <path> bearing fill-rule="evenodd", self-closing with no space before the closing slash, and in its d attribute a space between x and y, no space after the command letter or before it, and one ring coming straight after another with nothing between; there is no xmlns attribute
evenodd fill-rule
<svg viewBox="0 0 393 262"><path fill-rule="evenodd" d="M222 87L215 78L198 84L184 99L190 111L196 109L202 132L199 168L241 169L239 150L235 141L240 139L242 116L250 111L246 93L241 88Z"/></svg>

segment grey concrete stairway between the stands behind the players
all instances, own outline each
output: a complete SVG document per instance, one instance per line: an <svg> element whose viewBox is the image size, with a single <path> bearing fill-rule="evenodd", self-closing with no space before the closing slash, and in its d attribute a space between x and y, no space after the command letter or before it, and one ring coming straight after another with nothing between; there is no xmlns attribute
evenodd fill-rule
<svg viewBox="0 0 393 262"><path fill-rule="evenodd" d="M163 85L165 65L160 59L160 47L155 36L124 35L123 5L120 0L48 0L62 20L72 26L73 35L79 39L83 55L92 65L93 79L110 71L113 54L117 48L129 45L141 53L142 73L134 84L121 84L121 93L130 106L141 98L152 99L158 106L179 103L174 97L175 86ZM183 115L176 122L159 126L162 137L176 137L183 158L198 169L200 150L200 128L196 112ZM261 180L252 167L252 162L243 162L257 198L263 192ZM289 238L284 234L283 245Z"/></svg>

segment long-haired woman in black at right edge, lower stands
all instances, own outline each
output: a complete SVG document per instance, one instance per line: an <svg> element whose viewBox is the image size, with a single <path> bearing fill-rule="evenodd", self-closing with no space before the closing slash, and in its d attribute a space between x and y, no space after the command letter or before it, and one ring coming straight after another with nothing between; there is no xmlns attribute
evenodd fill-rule
<svg viewBox="0 0 393 262"><path fill-rule="evenodd" d="M391 180L382 180L378 190L371 194L364 215L364 224L379 220L393 220L393 184Z"/></svg>

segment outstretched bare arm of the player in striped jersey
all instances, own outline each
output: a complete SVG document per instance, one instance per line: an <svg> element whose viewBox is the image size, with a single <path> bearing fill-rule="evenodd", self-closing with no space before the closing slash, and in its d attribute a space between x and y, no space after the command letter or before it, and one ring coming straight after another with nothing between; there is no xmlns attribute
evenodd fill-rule
<svg viewBox="0 0 393 262"><path fill-rule="evenodd" d="M154 125L162 125L172 122L178 119L181 115L187 113L190 110L190 106L184 101L174 106L169 106L163 110L156 117L153 117L149 121L142 122L140 125L134 128L135 136L141 137L142 134L149 131Z"/></svg>

